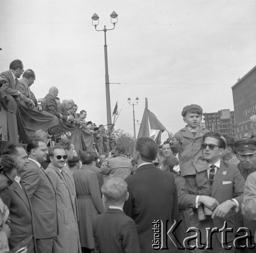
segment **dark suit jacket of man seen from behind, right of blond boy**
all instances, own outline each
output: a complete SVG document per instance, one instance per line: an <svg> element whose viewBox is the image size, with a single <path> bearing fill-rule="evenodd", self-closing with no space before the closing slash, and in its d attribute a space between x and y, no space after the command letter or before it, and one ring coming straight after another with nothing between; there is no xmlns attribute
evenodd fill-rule
<svg viewBox="0 0 256 253"><path fill-rule="evenodd" d="M168 222L168 229L174 220L179 220L178 194L174 176L166 171L155 168L152 164L146 164L124 179L128 185L129 199L124 203L123 211L130 216L138 226L139 244L141 252L155 252L152 248L154 220ZM171 235L172 236L172 235ZM167 238L167 246L177 248ZM175 239L173 238L175 241ZM163 241L163 245L165 240ZM169 252L161 249L161 252Z"/></svg>

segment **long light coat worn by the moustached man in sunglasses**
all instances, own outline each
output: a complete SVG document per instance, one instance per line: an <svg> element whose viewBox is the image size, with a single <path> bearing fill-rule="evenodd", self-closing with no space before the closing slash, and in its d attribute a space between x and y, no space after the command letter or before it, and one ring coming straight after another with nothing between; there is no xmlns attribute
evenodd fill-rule
<svg viewBox="0 0 256 253"><path fill-rule="evenodd" d="M46 174L57 193L57 214L59 234L54 238L53 253L81 252L76 216L76 204L71 189L69 175L49 164Z"/></svg>

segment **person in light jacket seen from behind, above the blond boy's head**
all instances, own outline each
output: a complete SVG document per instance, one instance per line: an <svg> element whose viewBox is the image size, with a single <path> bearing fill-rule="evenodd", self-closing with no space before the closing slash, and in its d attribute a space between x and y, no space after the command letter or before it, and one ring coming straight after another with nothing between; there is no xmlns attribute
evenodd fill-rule
<svg viewBox="0 0 256 253"><path fill-rule="evenodd" d="M110 152L109 157L104 160L100 168L100 173L106 175L104 180L111 177L124 179L134 172L131 159L125 157L124 153L124 146L117 144L114 151Z"/></svg>

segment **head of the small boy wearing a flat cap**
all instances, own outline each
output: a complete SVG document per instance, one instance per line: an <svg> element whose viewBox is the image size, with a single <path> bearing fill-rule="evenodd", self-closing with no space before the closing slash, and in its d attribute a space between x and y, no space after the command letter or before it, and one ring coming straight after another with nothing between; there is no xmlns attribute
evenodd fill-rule
<svg viewBox="0 0 256 253"><path fill-rule="evenodd" d="M189 127L198 127L202 121L203 109L200 105L191 104L183 108L181 115L183 121L187 123Z"/></svg>

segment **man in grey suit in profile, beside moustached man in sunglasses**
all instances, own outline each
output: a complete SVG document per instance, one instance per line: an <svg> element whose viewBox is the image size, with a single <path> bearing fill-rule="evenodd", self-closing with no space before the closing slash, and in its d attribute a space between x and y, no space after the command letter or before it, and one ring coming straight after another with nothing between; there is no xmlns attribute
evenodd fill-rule
<svg viewBox="0 0 256 253"><path fill-rule="evenodd" d="M43 141L32 140L27 152L29 162L22 179L33 209L36 252L51 253L58 224L56 191L41 166L47 159L48 148Z"/></svg>

